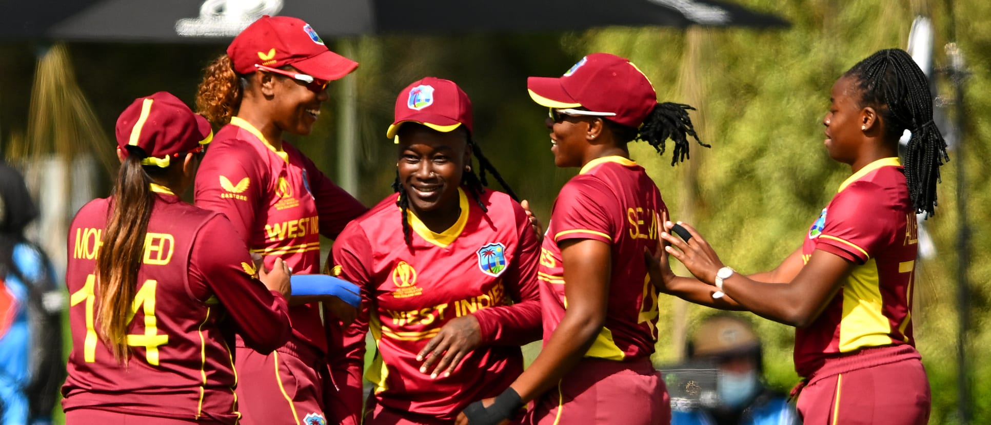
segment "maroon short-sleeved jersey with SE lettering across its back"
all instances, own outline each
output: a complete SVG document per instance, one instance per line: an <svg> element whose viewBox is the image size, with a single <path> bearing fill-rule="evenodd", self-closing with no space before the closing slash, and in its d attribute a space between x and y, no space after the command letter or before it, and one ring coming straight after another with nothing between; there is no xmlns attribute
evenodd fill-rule
<svg viewBox="0 0 991 425"><path fill-rule="evenodd" d="M591 239L609 245L606 324L586 357L630 361L650 356L657 342L657 293L643 262L643 250L657 248L661 215L667 211L661 193L642 166L622 157L589 161L568 180L551 211L540 250L540 301L544 344L564 318L564 266L559 245Z"/></svg>

